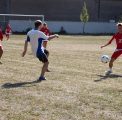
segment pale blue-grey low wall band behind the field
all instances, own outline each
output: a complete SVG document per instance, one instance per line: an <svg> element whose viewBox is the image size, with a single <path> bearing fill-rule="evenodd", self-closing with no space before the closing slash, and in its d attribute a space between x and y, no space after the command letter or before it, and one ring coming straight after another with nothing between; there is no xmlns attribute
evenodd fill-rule
<svg viewBox="0 0 122 120"><path fill-rule="evenodd" d="M83 23L81 22L56 22L56 21L47 21L48 27L52 32L59 32L61 27L69 34L81 34L83 33ZM28 21L10 21L12 30L15 32L26 31L29 27L34 27L33 22ZM115 33L116 32L116 23L113 22L88 22L85 25L85 33L90 34L103 34L103 33Z"/></svg>

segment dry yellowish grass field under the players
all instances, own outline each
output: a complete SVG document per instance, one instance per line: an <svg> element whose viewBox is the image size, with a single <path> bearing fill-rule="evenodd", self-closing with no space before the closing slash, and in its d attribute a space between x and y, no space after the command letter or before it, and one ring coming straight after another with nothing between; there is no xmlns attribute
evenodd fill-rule
<svg viewBox="0 0 122 120"><path fill-rule="evenodd" d="M50 73L34 82L42 63L29 47L21 57L26 36L3 41L0 65L0 120L122 120L122 58L113 74L104 76L114 45L100 46L111 36L60 36L48 44Z"/></svg>

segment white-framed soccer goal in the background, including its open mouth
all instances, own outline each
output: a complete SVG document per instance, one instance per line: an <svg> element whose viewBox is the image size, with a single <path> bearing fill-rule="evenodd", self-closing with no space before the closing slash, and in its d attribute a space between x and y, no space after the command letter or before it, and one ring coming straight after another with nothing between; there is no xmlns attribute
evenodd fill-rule
<svg viewBox="0 0 122 120"><path fill-rule="evenodd" d="M26 32L34 27L35 20L44 22L44 15L0 14L0 26L3 31L9 23L13 32Z"/></svg>

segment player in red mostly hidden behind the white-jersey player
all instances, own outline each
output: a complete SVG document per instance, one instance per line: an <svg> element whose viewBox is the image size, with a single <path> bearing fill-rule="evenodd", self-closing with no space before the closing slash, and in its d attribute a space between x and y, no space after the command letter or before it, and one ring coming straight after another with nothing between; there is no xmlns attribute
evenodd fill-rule
<svg viewBox="0 0 122 120"><path fill-rule="evenodd" d="M50 30L49 30L46 23L43 23L43 27L41 28L40 31L42 31L47 36L51 35ZM44 53L47 55L47 57L49 57L49 51L46 49L47 48L47 42L43 43L43 47L44 47ZM47 72L50 72L50 70L47 69Z"/></svg>

